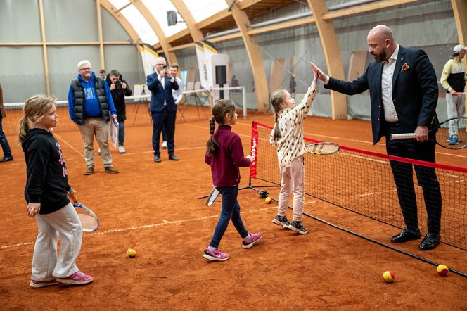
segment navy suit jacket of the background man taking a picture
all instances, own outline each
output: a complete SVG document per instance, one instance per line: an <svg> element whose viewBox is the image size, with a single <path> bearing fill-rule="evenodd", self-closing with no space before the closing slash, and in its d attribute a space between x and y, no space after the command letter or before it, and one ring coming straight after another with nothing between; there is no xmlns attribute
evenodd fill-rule
<svg viewBox="0 0 467 311"><path fill-rule="evenodd" d="M164 76L164 87L162 87L161 81L158 79L158 73L154 72L146 77L146 84L148 89L151 91L151 106L149 110L152 112L160 112L164 108L164 101L167 102L168 111L176 111L177 105L172 96L172 89L179 89L177 79L174 82L170 82L167 75Z"/></svg>

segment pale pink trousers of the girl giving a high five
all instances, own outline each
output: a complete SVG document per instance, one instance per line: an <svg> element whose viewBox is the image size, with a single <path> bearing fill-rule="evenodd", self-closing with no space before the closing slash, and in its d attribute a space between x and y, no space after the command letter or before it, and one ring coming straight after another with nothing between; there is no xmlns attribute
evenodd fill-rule
<svg viewBox="0 0 467 311"><path fill-rule="evenodd" d="M289 165L281 167L281 192L279 193L279 216L285 216L290 193L293 192L293 220L303 218L305 166L303 155L295 158Z"/></svg>

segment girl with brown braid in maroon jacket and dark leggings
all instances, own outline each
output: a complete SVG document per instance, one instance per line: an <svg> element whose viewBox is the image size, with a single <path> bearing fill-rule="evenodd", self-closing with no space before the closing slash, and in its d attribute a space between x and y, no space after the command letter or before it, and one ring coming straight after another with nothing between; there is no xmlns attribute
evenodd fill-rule
<svg viewBox="0 0 467 311"><path fill-rule="evenodd" d="M243 156L242 141L238 134L232 132L232 125L237 121L235 104L229 99L220 99L212 106L210 118L210 134L207 139L205 162L211 166L212 184L222 194L222 210L209 246L203 255L207 260L224 261L229 254L219 250L219 243L232 220L233 226L240 234L243 248L251 248L260 243L260 232L250 234L243 225L240 216L240 205L237 201L240 171L238 167L249 167L252 156ZM216 131L216 122L219 125Z"/></svg>

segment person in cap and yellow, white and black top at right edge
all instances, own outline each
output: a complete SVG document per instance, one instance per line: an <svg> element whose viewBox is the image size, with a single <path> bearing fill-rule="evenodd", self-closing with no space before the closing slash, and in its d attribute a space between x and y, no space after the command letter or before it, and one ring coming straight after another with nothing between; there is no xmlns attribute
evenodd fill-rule
<svg viewBox="0 0 467 311"><path fill-rule="evenodd" d="M467 47L460 44L454 46L452 58L447 61L442 69L441 85L446 89L447 118L463 117L466 113L466 96L463 91L466 88L466 68L462 58L466 55ZM461 93L461 94L459 94ZM458 122L449 122L449 134L447 141L450 145L460 144L458 138Z"/></svg>

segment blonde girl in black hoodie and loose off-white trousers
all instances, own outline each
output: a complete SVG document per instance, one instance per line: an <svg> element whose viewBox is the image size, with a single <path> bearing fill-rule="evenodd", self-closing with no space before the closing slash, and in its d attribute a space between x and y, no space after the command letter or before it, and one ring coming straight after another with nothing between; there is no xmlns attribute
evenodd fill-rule
<svg viewBox="0 0 467 311"><path fill-rule="evenodd" d="M65 159L51 132L58 118L55 101L45 95L27 99L18 134L26 161L27 215L36 217L39 231L32 258L32 288L58 283L88 284L94 279L76 265L82 226L68 198L75 192L68 184ZM61 242L57 256L58 236Z"/></svg>

